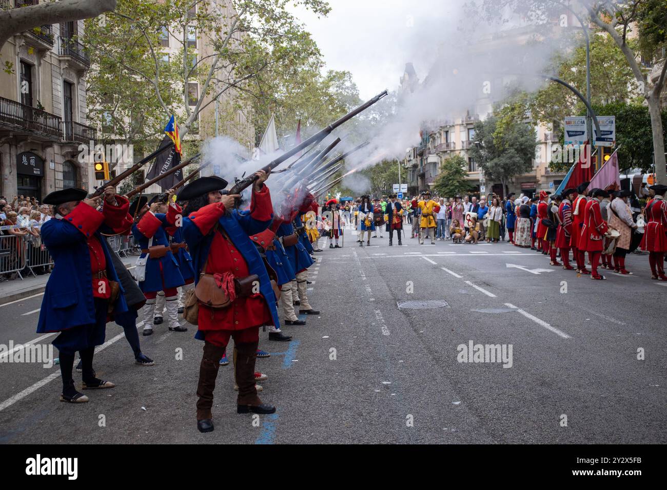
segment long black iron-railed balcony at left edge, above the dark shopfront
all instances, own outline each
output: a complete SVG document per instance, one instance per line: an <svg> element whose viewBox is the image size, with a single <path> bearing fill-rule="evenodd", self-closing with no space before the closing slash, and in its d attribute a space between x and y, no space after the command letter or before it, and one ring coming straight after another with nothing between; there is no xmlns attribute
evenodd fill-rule
<svg viewBox="0 0 667 490"><path fill-rule="evenodd" d="M0 97L0 133L37 133L49 141L62 139L61 119L29 105Z"/></svg>

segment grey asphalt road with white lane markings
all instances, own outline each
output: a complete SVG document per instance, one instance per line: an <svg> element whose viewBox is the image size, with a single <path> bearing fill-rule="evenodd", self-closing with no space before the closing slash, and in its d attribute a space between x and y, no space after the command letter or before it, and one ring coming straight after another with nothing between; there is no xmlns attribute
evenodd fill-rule
<svg viewBox="0 0 667 490"><path fill-rule="evenodd" d="M344 248L315 254L309 297L321 315L284 327L291 343L260 333L271 357L257 359L269 376L259 395L274 415L235 413L228 365L216 429L200 434L194 327L140 337L156 361L140 367L109 325L95 369L117 387L83 405L59 403L57 366L0 359L0 443L667 442L667 289L649 279L648 257L628 257L632 276L592 281L507 243L354 239L348 231ZM41 298L0 306L1 344L40 337ZM404 301L446 305L399 309ZM505 361L459 362L471 341L504 345Z"/></svg>

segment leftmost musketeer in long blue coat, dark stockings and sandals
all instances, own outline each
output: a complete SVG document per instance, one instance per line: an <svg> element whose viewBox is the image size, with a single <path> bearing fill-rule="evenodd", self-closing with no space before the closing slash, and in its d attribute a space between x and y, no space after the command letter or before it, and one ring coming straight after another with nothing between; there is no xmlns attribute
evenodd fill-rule
<svg viewBox="0 0 667 490"><path fill-rule="evenodd" d="M44 203L53 205L55 219L41 227L42 241L55 263L39 312L37 333L59 332L53 345L59 351L63 380L61 401L84 403L88 397L74 387L74 355L81 355L83 389L112 388L110 381L95 377L95 346L104 343L107 313L127 311L123 288L113 267L107 243L99 234L104 224L121 227L127 219L128 201L115 188L101 197L86 199L83 189L50 193Z"/></svg>

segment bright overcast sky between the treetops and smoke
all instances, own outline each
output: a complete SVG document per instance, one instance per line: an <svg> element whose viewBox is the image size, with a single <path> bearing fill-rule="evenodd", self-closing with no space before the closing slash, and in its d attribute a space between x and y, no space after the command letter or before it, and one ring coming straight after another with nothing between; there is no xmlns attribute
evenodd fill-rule
<svg viewBox="0 0 667 490"><path fill-rule="evenodd" d="M362 99L370 99L395 89L408 61L424 79L436 49L425 40L452 21L452 3L463 0L329 0L331 12L319 19L290 10L305 23L327 68L352 72Z"/></svg>

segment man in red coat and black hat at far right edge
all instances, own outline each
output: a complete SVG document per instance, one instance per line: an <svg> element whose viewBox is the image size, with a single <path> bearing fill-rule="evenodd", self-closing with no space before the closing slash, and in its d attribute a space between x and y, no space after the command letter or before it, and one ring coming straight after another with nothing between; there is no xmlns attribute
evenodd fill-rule
<svg viewBox="0 0 667 490"><path fill-rule="evenodd" d="M646 203L646 230L642 238L642 250L648 251L648 261L651 265L651 279L667 281L664 269L664 254L667 253L667 185L652 185L649 187L655 197Z"/></svg>

